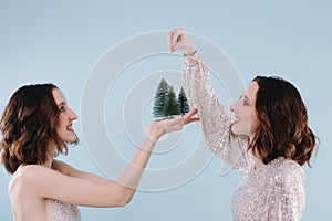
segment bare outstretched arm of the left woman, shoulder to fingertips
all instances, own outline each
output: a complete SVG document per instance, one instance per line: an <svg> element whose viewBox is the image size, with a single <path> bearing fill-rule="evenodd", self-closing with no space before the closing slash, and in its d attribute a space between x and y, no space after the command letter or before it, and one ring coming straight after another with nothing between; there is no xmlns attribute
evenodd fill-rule
<svg viewBox="0 0 332 221"><path fill-rule="evenodd" d="M155 143L166 133L180 130L184 125L198 120L193 109L184 117L153 122L146 129L139 148L124 173L116 180L81 172L60 161L55 170L28 165L18 169L11 181L10 196L21 199L54 199L86 207L124 207L133 198L139 179L151 157ZM35 200L35 199L34 199Z"/></svg>

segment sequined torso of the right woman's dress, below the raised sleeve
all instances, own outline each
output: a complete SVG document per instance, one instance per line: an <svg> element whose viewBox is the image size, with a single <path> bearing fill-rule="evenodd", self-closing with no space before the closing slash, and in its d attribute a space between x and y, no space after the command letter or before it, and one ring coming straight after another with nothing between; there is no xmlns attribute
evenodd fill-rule
<svg viewBox="0 0 332 221"><path fill-rule="evenodd" d="M245 173L230 204L236 221L299 221L304 207L304 171L283 157Z"/></svg>

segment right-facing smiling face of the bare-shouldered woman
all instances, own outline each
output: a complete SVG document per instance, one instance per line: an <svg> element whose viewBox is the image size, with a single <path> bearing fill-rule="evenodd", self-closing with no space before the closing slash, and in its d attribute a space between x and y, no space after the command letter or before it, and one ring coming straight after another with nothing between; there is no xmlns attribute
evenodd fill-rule
<svg viewBox="0 0 332 221"><path fill-rule="evenodd" d="M77 118L76 114L68 106L64 95L59 88L52 90L53 98L59 107L58 136L64 143L74 143L76 134L73 129L73 120Z"/></svg>

